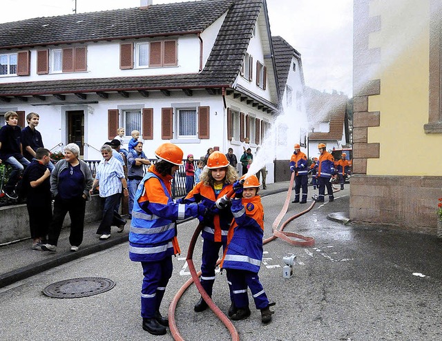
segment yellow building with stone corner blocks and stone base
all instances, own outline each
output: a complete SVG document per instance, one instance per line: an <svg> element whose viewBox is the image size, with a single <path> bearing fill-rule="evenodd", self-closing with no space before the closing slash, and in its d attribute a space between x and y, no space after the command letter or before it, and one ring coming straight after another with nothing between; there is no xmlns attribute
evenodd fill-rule
<svg viewBox="0 0 442 341"><path fill-rule="evenodd" d="M436 227L442 1L354 0L350 219Z"/></svg>

